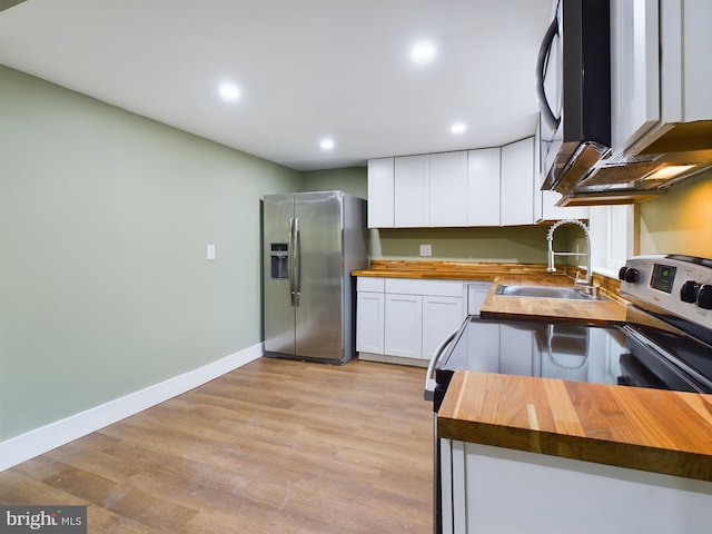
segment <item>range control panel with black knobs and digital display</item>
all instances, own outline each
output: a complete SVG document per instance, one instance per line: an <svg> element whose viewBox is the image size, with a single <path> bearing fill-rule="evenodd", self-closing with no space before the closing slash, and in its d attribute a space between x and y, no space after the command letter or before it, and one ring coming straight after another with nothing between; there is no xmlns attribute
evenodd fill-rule
<svg viewBox="0 0 712 534"><path fill-rule="evenodd" d="M712 328L712 259L636 256L619 271L621 295Z"/></svg>

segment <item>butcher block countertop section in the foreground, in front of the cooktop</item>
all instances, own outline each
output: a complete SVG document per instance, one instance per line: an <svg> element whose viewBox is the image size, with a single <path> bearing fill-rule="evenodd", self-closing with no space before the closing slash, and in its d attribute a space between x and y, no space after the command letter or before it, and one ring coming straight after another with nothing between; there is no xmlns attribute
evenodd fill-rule
<svg viewBox="0 0 712 534"><path fill-rule="evenodd" d="M712 481L712 395L456 372L438 435Z"/></svg>

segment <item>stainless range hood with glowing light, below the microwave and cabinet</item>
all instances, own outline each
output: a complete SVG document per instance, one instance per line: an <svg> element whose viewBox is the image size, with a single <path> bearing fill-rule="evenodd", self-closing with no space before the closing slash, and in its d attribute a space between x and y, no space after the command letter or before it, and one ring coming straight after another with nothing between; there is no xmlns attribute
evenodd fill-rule
<svg viewBox="0 0 712 534"><path fill-rule="evenodd" d="M631 204L712 169L712 120L656 131L645 148L621 155L596 142L577 144L571 158L551 169L542 189L561 192L558 206Z"/></svg>

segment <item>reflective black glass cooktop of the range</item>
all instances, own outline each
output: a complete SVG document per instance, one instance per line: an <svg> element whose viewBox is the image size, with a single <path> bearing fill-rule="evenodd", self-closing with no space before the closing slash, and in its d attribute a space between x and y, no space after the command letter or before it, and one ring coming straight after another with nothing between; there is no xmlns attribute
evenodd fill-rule
<svg viewBox="0 0 712 534"><path fill-rule="evenodd" d="M706 380L712 376L712 359L704 347L653 328L644 334L630 325L471 316L436 369L436 382L446 386L454 370L467 369L712 393ZM666 348L656 349L654 343ZM673 364L662 353L692 365Z"/></svg>

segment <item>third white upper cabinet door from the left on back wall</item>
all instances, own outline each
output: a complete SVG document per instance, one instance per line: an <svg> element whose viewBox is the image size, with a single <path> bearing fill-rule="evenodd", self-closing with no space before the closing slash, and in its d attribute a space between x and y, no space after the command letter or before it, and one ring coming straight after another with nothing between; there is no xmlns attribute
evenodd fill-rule
<svg viewBox="0 0 712 534"><path fill-rule="evenodd" d="M467 152L431 155L429 207L429 226L467 226Z"/></svg>

